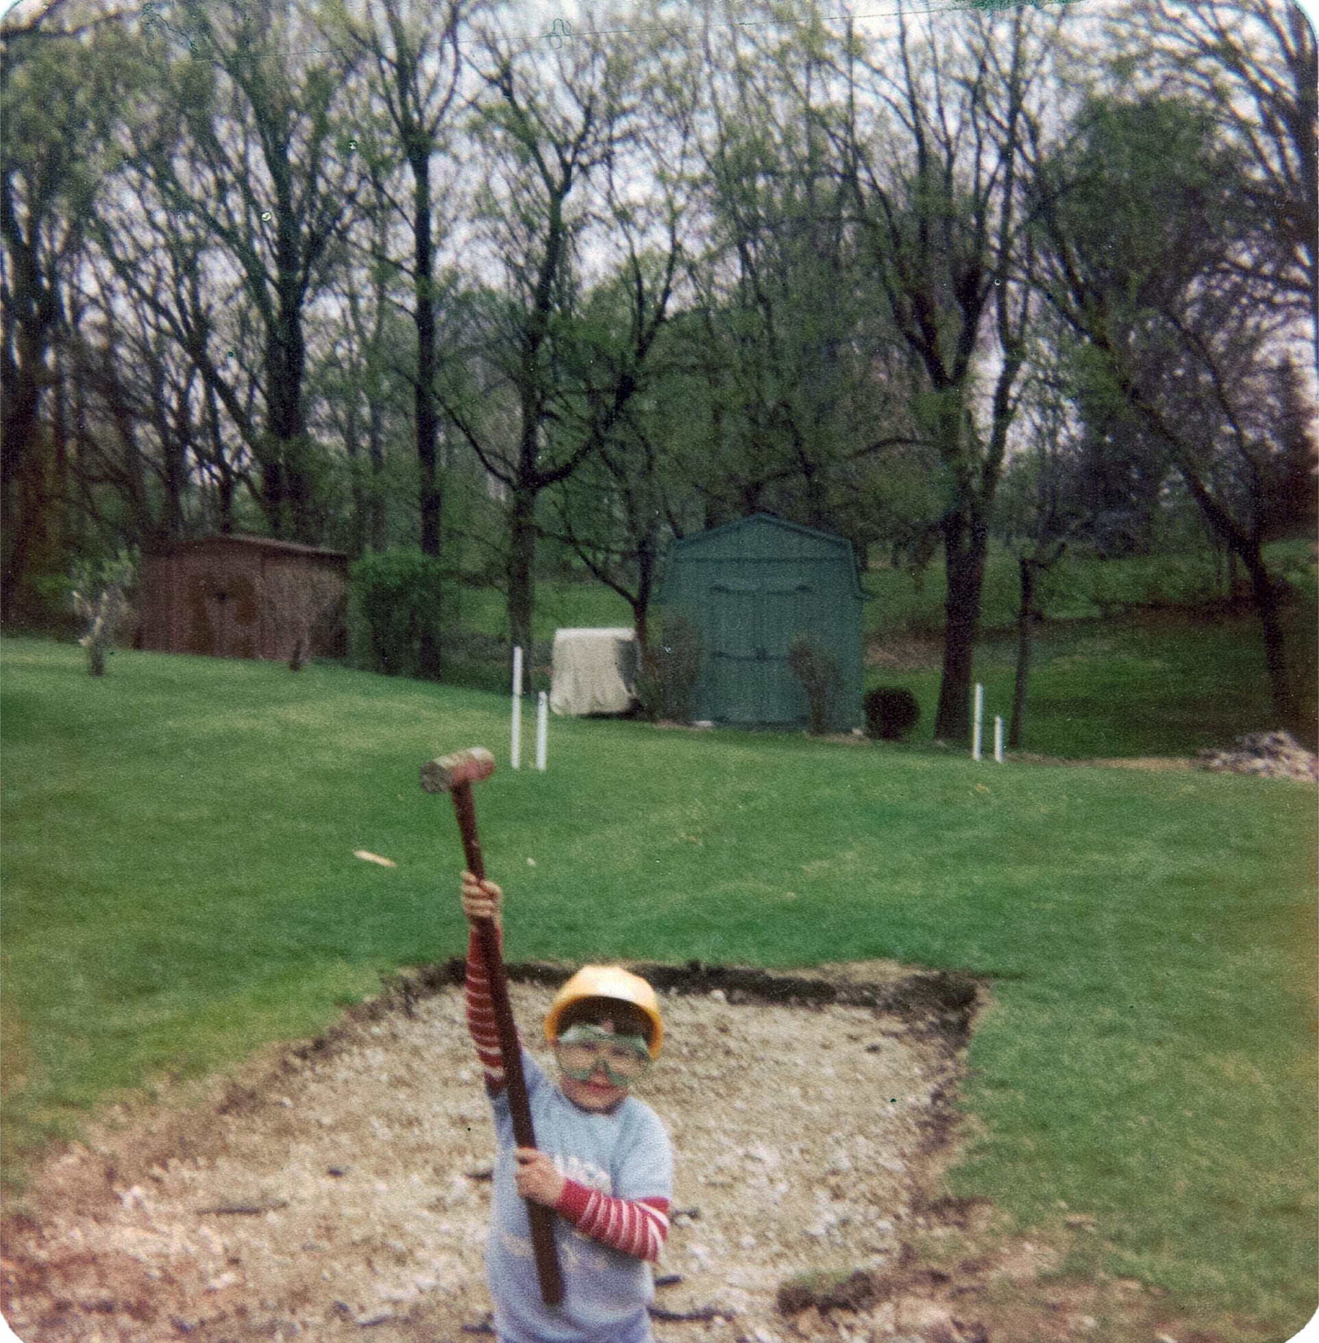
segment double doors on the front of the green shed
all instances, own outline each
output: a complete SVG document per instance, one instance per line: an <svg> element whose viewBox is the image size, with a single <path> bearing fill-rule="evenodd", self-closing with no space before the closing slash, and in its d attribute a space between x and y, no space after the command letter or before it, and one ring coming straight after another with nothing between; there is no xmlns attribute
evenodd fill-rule
<svg viewBox="0 0 1319 1343"><path fill-rule="evenodd" d="M809 583L719 582L711 590L713 717L725 723L802 723L806 692L787 650L814 626Z"/></svg>

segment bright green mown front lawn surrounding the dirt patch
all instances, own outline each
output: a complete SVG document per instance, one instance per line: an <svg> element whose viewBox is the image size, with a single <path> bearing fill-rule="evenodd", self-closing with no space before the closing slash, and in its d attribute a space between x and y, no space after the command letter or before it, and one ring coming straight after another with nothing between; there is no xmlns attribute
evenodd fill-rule
<svg viewBox="0 0 1319 1343"><path fill-rule="evenodd" d="M416 771L502 757L501 696L3 654L11 1190L98 1101L314 1033L463 945L453 821ZM1312 1312L1312 788L555 720L549 771L501 767L478 810L513 959L986 976L954 1191L1170 1305L1276 1338Z"/></svg>

